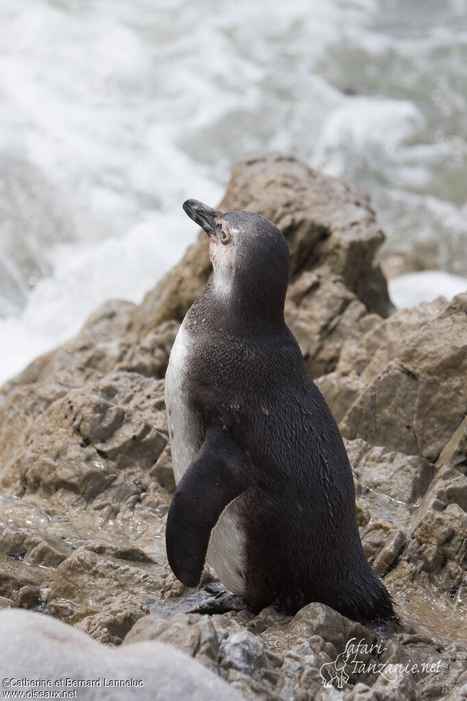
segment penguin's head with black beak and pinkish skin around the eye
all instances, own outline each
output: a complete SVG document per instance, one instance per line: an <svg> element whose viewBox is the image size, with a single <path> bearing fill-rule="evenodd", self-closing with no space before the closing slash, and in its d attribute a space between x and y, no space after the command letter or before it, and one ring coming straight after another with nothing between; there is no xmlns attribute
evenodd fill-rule
<svg viewBox="0 0 467 701"><path fill-rule="evenodd" d="M253 212L219 212L186 200L188 217L209 236L213 290L263 318L283 318L289 254L284 234Z"/></svg>

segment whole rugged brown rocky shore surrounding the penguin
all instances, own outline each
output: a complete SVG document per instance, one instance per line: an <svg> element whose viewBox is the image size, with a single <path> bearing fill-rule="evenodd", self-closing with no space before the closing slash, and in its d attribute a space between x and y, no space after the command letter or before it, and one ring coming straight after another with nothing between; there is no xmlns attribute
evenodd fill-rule
<svg viewBox="0 0 467 701"><path fill-rule="evenodd" d="M467 293L391 313L368 198L293 158L239 163L219 208L256 211L288 240L286 319L340 423L365 554L400 629L316 603L186 614L207 594L167 565L163 397L211 271L201 234L140 306L104 305L0 391L3 676L78 679L92 658L102 679L146 675L129 698L467 698ZM92 691L78 697L113 697Z"/></svg>

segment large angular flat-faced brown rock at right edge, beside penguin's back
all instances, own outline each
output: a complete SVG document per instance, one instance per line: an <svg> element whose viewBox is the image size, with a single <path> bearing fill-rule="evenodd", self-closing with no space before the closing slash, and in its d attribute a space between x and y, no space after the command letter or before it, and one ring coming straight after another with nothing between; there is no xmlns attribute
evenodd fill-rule
<svg viewBox="0 0 467 701"><path fill-rule="evenodd" d="M350 407L343 435L435 461L466 412L466 313L459 294L411 334Z"/></svg>

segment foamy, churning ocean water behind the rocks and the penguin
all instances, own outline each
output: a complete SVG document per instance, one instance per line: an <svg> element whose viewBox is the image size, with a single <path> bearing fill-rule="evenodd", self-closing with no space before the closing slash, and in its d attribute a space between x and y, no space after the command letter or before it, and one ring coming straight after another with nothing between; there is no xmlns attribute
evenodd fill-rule
<svg viewBox="0 0 467 701"><path fill-rule="evenodd" d="M183 200L268 151L466 276L466 65L466 0L2 0L0 383L139 301L195 238Z"/></svg>

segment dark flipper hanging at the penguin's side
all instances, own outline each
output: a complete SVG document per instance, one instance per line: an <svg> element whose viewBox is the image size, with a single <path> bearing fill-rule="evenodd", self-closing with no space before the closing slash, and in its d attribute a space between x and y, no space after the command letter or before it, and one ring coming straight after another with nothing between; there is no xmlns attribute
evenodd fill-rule
<svg viewBox="0 0 467 701"><path fill-rule="evenodd" d="M200 584L211 531L225 507L248 489L250 467L232 436L209 426L175 490L165 529L169 565L188 587Z"/></svg>

